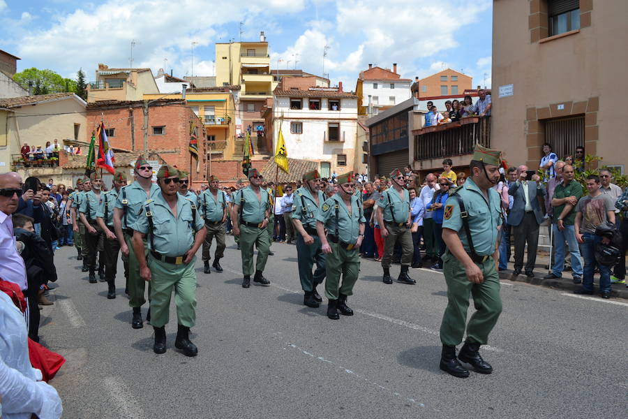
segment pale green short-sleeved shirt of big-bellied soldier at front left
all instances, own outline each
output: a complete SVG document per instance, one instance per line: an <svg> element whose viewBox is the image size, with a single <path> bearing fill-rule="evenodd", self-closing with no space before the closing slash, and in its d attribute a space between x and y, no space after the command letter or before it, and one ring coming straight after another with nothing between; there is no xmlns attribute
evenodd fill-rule
<svg viewBox="0 0 628 419"><path fill-rule="evenodd" d="M150 223L147 216L150 210L153 219L153 230L149 231ZM170 211L170 205L161 193L146 200L142 211L136 217L133 230L152 235L148 237L149 249L164 256L183 256L194 244L194 233L205 225L199 212L194 219L192 203L177 193L177 216ZM152 248L154 244L155 248Z"/></svg>

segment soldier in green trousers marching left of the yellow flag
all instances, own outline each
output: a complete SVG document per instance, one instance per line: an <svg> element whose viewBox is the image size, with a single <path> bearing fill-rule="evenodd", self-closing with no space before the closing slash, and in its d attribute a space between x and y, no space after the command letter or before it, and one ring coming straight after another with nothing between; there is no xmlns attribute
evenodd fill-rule
<svg viewBox="0 0 628 419"><path fill-rule="evenodd" d="M250 184L234 194L231 221L233 223L233 235L240 237L242 272L244 273L242 288L251 286L253 246L257 247L257 262L255 263L253 282L262 286L270 285L270 281L263 275L270 249L267 227L271 212L269 194L266 189L260 187L263 179L264 177L257 169L249 169L248 182Z"/></svg>

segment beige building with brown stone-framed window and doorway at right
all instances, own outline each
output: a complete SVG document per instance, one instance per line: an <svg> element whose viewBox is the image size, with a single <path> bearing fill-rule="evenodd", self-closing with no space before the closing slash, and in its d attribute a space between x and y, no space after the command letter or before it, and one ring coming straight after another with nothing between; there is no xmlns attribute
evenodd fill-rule
<svg viewBox="0 0 628 419"><path fill-rule="evenodd" d="M625 0L494 0L491 147L539 167L584 145L604 166L628 163Z"/></svg>

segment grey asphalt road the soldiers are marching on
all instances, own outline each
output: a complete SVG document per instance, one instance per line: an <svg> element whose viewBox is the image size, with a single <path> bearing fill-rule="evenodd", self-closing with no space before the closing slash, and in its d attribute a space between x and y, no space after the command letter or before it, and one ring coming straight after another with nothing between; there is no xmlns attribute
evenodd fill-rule
<svg viewBox="0 0 628 419"><path fill-rule="evenodd" d="M625 300L502 281L504 310L481 349L495 372L461 379L438 369L442 274L414 269L417 285L386 285L380 264L363 260L348 300L355 316L331 321L325 304L302 305L294 246L273 244L270 287L244 289L239 251L232 237L227 244L225 272L203 274L200 252L196 262L196 358L174 349L174 301L167 352L156 355L150 325L130 327L124 277L118 297L107 300L107 285L87 282L73 248L57 252L59 287L40 336L67 359L51 382L64 418L625 418L628 411Z"/></svg>

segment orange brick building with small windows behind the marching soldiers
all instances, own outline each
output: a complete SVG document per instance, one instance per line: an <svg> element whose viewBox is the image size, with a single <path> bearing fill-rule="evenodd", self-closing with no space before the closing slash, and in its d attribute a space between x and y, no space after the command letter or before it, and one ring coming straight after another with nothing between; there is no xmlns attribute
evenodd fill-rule
<svg viewBox="0 0 628 419"><path fill-rule="evenodd" d="M144 104L148 104L148 121ZM200 184L207 179L207 153L202 140L201 120L185 101L158 99L154 101L106 101L87 105L87 127L94 130L103 118L112 147L137 155L144 152L144 124L148 126L148 150L164 161L190 172L190 182ZM199 160L189 151L190 126L198 140ZM88 135L89 136L89 135Z"/></svg>

